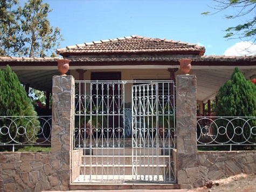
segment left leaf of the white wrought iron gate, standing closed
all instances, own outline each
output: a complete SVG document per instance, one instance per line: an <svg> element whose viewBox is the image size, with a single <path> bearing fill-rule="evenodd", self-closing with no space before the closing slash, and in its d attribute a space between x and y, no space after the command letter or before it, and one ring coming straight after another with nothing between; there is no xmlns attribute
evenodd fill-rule
<svg viewBox="0 0 256 192"><path fill-rule="evenodd" d="M124 84L75 83L74 148L83 150L79 166L84 182L124 181Z"/></svg>

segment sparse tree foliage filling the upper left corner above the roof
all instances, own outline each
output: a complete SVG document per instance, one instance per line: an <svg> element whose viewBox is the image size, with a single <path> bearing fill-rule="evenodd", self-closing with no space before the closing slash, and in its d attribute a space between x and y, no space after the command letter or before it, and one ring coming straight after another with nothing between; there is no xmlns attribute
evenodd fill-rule
<svg viewBox="0 0 256 192"><path fill-rule="evenodd" d="M56 56L60 29L50 25L52 11L43 0L29 0L18 6L18 0L1 1L0 54L9 56Z"/></svg>

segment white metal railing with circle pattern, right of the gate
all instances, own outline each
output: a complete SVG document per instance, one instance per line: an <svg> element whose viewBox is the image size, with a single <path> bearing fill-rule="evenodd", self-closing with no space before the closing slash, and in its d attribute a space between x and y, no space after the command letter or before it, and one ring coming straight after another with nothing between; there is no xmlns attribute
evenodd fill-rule
<svg viewBox="0 0 256 192"><path fill-rule="evenodd" d="M256 117L197 117L198 146L256 146Z"/></svg>

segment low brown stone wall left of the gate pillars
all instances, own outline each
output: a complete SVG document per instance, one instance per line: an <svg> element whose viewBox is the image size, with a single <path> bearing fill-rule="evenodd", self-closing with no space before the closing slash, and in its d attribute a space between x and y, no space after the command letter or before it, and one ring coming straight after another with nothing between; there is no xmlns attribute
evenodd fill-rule
<svg viewBox="0 0 256 192"><path fill-rule="evenodd" d="M54 172L51 153L0 153L0 191L54 188L60 181Z"/></svg>

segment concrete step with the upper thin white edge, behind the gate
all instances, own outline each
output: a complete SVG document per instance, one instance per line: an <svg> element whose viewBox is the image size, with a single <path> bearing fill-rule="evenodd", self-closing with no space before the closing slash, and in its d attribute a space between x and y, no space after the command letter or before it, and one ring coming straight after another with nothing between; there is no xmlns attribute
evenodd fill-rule
<svg viewBox="0 0 256 192"><path fill-rule="evenodd" d="M132 155L83 155L81 163L84 165L95 165L95 164L110 164L110 165L132 165L133 159L136 162L142 162L143 164L147 165L154 165L154 164L160 164L160 165L167 165L170 161L172 161L172 157L169 156L133 156Z"/></svg>

